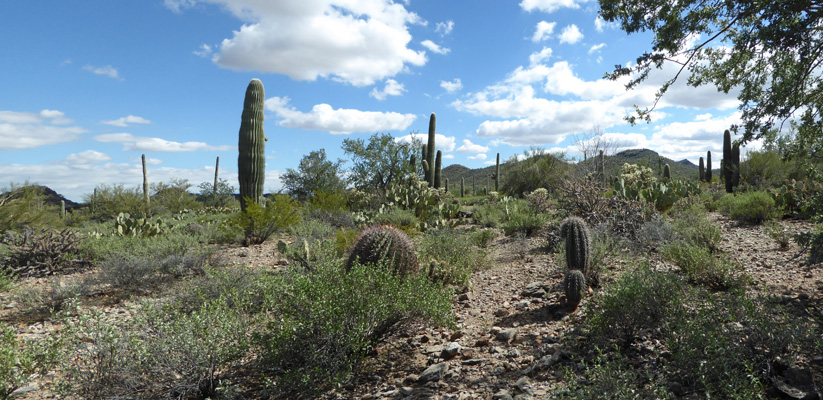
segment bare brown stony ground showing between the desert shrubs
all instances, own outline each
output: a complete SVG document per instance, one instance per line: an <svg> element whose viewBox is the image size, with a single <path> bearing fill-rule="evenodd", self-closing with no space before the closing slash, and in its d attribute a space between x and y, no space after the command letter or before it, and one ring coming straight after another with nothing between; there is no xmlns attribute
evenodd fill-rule
<svg viewBox="0 0 823 400"><path fill-rule="evenodd" d="M823 310L823 267L807 265L796 244L781 250L759 226L741 225L713 215L723 227L722 250L745 266L753 290L775 293L786 302L802 303L805 312ZM788 232L811 229L807 222L782 221ZM562 338L586 313L587 300L571 310L560 288L562 261L543 250L545 239L498 237L492 244L492 267L478 271L471 291L454 301L456 329L411 326L380 343L351 384L324 395L326 399L541 399L560 384L558 366L577 367L574 350ZM220 250L233 264L255 268L285 265L275 243ZM632 264L628 249L609 258L608 281ZM652 258L655 256L652 254ZM671 268L654 261L658 268ZM23 285L43 287L47 279ZM48 334L48 321L23 310L0 294L0 321L13 324L20 335ZM109 318L128 318L133 302L110 304L105 299L84 303ZM811 310L811 311L809 311ZM777 327L776 327L777 329ZM57 398L53 389L60 372L39 377L15 398ZM819 382L823 377L817 376Z"/></svg>

